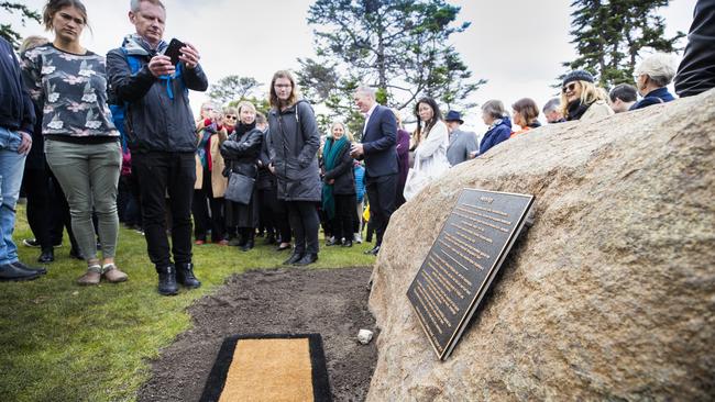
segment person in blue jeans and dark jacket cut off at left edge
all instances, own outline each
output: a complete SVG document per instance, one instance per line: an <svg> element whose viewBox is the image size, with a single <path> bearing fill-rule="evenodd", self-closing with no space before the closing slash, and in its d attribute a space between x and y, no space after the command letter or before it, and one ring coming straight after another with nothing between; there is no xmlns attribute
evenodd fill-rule
<svg viewBox="0 0 715 402"><path fill-rule="evenodd" d="M22 85L20 64L8 41L0 37L0 281L32 280L45 273L18 258L12 241L15 204L20 196L25 157L32 147L35 112Z"/></svg>

